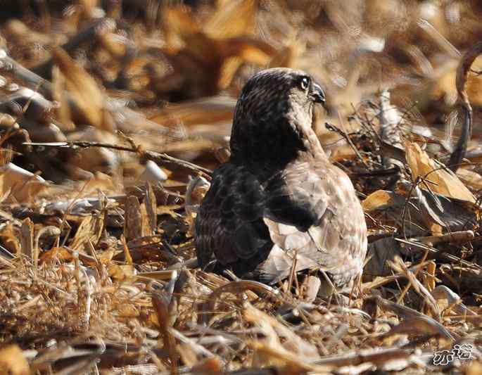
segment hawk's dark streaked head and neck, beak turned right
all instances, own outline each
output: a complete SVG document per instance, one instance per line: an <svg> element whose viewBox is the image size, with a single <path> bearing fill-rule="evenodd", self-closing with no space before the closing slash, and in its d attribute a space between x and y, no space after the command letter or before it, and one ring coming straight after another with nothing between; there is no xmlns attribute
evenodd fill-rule
<svg viewBox="0 0 482 375"><path fill-rule="evenodd" d="M306 72L288 68L258 72L236 104L232 160L282 167L300 151L321 150L312 118L315 103L324 101L322 88Z"/></svg>

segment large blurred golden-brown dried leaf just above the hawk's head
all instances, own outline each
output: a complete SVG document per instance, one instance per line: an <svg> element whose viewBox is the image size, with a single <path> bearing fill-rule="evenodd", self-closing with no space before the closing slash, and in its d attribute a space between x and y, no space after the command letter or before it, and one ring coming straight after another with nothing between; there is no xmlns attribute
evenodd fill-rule
<svg viewBox="0 0 482 375"><path fill-rule="evenodd" d="M249 36L254 29L255 2L232 1L202 27L186 7L165 9L166 47L162 50L175 72L155 85L158 91L165 92L169 80L174 83L172 89L183 89L187 98L211 96L229 86L241 63L267 65L276 51Z"/></svg>

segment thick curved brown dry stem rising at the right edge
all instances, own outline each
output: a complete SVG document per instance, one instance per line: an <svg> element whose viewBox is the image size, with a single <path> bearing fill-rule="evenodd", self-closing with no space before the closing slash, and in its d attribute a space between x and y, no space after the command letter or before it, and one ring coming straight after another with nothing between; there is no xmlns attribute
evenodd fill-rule
<svg viewBox="0 0 482 375"><path fill-rule="evenodd" d="M465 158L467 153L467 144L472 134L472 107L469 102L469 96L465 90L465 84L467 83L467 75L469 74L470 67L474 63L478 55L482 53L482 42L478 42L469 51L467 51L457 67L457 77L455 79L455 87L457 87L457 94L459 101L462 105L462 112L464 113L464 124L462 126L462 134L460 134L457 146L450 155L449 165L453 172L457 172L459 164L462 159Z"/></svg>

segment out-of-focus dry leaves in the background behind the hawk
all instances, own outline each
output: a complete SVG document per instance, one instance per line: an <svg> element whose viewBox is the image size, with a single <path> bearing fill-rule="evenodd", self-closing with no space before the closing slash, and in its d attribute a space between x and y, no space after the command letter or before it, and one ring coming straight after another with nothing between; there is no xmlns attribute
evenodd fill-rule
<svg viewBox="0 0 482 375"><path fill-rule="evenodd" d="M310 72L324 87L329 111L319 110L316 130L334 160L353 151L325 122L341 127L343 120L346 132L356 132L360 124L350 115L366 114L384 90L405 125L450 148L453 130L459 132L455 70L482 33L479 1L23 0L1 6L0 46L10 59L0 66L0 126L8 132L1 146L23 154L5 151L5 160L56 184L114 179L114 190L145 171L135 154L23 142L118 144L120 130L148 150L213 168L222 160L215 151L227 146L243 82L262 68L286 66ZM478 76L469 77L474 139L480 85ZM186 171L176 166L163 172L186 182Z"/></svg>

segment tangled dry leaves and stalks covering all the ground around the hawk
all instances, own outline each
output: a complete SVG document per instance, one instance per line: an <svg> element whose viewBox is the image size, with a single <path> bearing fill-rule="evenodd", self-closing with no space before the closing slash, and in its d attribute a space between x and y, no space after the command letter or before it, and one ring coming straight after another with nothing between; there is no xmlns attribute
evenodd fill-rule
<svg viewBox="0 0 482 375"><path fill-rule="evenodd" d="M16 3L0 25L1 374L482 373L479 1ZM267 66L326 89L317 134L370 230L345 303L310 275L270 288L196 268L196 207ZM471 360L433 364L463 344Z"/></svg>

